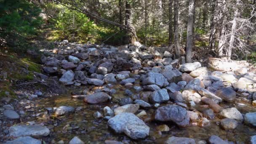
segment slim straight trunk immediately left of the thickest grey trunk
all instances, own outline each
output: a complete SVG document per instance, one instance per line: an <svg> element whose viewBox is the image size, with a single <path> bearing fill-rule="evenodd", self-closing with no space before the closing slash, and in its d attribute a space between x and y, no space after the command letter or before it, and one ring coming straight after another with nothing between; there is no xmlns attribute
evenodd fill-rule
<svg viewBox="0 0 256 144"><path fill-rule="evenodd" d="M175 29L175 34L174 34L174 51L175 51L175 56L176 58L179 58L181 51L179 47L179 1L174 0L174 29Z"/></svg>

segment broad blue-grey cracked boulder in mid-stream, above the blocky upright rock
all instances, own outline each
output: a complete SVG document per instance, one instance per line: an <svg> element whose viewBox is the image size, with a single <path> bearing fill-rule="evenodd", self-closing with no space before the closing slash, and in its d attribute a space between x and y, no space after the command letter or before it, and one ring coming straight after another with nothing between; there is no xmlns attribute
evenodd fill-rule
<svg viewBox="0 0 256 144"><path fill-rule="evenodd" d="M160 73L149 72L146 75L141 76L142 85L158 85L163 87L168 85L168 80Z"/></svg>

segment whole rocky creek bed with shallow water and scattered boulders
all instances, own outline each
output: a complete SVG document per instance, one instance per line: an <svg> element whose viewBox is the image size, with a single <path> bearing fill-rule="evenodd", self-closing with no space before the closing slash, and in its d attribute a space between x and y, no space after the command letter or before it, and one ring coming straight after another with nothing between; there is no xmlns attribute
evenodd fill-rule
<svg viewBox="0 0 256 144"><path fill-rule="evenodd" d="M139 43L56 43L41 56L42 74L34 74L41 83L58 83L44 90L29 85L16 91L17 99L3 98L0 141L256 144L251 64L202 61L185 64L168 48Z"/></svg>

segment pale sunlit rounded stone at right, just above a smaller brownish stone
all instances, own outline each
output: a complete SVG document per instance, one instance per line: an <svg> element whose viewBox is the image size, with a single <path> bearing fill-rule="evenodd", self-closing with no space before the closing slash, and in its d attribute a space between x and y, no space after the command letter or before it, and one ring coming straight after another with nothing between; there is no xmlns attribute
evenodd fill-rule
<svg viewBox="0 0 256 144"><path fill-rule="evenodd" d="M219 115L220 117L232 118L237 121L243 122L243 115L235 107L223 109L219 113Z"/></svg>

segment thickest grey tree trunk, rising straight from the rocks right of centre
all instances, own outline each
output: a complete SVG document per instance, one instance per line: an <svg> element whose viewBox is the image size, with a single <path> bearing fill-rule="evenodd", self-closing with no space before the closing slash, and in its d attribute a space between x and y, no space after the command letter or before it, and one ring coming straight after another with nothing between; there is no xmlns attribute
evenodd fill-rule
<svg viewBox="0 0 256 144"><path fill-rule="evenodd" d="M188 24L187 24L186 62L192 62L194 9L195 9L195 0L189 0L189 16L188 16Z"/></svg>

